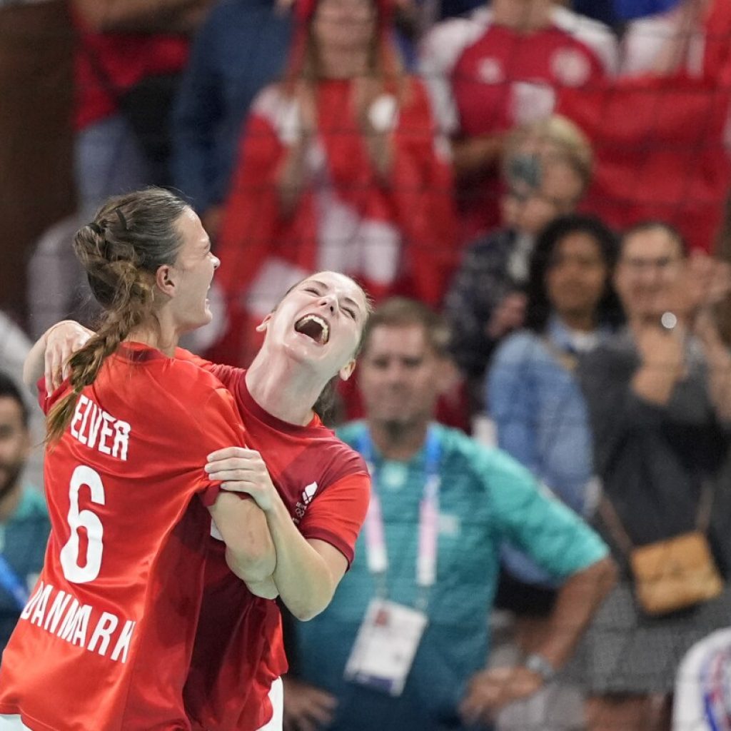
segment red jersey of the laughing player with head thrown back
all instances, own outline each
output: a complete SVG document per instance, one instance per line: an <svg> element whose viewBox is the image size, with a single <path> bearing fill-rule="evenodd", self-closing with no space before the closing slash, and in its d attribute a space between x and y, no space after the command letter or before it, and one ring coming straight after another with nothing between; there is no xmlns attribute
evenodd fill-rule
<svg viewBox="0 0 731 731"><path fill-rule="evenodd" d="M180 357L193 356L182 351ZM243 368L195 362L234 395L247 446L261 452L303 536L327 541L352 562L370 496L363 458L318 417L296 426L265 412L251 398ZM230 572L224 544L211 541L186 708L194 729L253 731L270 719L267 694L272 681L287 671L281 616L276 602L253 596Z"/></svg>

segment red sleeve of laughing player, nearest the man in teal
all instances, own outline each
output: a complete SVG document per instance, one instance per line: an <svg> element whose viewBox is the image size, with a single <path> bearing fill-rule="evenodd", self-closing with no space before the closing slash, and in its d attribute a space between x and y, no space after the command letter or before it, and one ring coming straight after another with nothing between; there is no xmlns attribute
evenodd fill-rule
<svg viewBox="0 0 731 731"><path fill-rule="evenodd" d="M300 523L300 532L307 539L317 538L335 546L350 565L370 499L368 474L358 472L342 477L312 501Z"/></svg>

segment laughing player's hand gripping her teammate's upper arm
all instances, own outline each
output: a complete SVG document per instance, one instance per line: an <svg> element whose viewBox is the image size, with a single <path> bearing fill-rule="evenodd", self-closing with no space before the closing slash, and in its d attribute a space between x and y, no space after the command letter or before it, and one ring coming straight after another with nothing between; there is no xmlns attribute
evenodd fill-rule
<svg viewBox="0 0 731 731"><path fill-rule="evenodd" d="M208 455L205 471L211 480L220 480L222 490L251 495L264 512L272 510L276 501L281 501L257 450L227 447L212 452Z"/></svg>

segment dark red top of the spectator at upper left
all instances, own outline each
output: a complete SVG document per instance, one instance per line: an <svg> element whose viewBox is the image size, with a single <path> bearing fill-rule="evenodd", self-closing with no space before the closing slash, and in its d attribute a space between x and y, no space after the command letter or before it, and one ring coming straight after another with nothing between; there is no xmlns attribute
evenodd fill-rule
<svg viewBox="0 0 731 731"><path fill-rule="evenodd" d="M115 96L145 77L182 71L189 39L183 35L94 33L72 16L78 39L74 58L75 128L117 111Z"/></svg>

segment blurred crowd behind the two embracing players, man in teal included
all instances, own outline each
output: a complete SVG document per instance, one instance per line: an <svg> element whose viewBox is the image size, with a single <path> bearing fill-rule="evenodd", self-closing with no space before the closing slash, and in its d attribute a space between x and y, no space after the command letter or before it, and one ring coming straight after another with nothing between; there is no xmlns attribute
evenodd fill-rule
<svg viewBox="0 0 731 731"><path fill-rule="evenodd" d="M72 233L145 184L181 192L223 262L188 343L216 362L249 366L257 322L314 271L376 303L339 412L364 418L338 433L373 467L392 570L374 576L366 526L333 605L292 627L287 729L507 729L501 709L561 683L591 731L670 729L683 656L731 625L727 0L68 4L77 213L29 256L30 336L93 322ZM0 336L18 371L22 331ZM461 431L436 425L446 401ZM723 588L651 616L632 550L699 528ZM428 618L396 695L349 670L386 596ZM491 665L495 609L516 667Z"/></svg>

